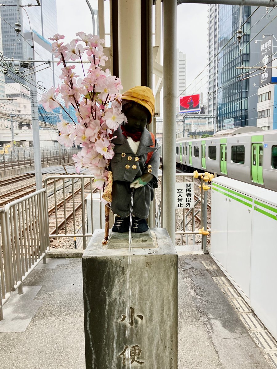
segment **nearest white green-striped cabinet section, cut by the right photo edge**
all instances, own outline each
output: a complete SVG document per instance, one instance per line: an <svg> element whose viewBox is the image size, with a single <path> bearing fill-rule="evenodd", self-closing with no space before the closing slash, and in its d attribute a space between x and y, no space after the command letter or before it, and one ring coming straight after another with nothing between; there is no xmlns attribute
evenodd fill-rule
<svg viewBox="0 0 277 369"><path fill-rule="evenodd" d="M255 199L251 251L250 300L255 314L277 337L277 194L270 203ZM257 208L256 208L257 207Z"/></svg>

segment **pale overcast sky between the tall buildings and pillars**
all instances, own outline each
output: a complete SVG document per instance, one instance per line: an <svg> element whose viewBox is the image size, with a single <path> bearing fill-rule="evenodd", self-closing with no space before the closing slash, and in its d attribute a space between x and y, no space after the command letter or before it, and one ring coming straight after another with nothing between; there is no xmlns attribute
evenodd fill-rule
<svg viewBox="0 0 277 369"><path fill-rule="evenodd" d="M90 0L97 7L97 0ZM57 0L58 32L66 41L75 33L92 33L92 17L85 0ZM207 61L208 5L181 4L177 6L177 48L187 55L187 86L206 67ZM206 68L202 75L187 88L187 93L203 92L206 95ZM204 85L204 86L202 86ZM201 87L202 86L202 87Z"/></svg>

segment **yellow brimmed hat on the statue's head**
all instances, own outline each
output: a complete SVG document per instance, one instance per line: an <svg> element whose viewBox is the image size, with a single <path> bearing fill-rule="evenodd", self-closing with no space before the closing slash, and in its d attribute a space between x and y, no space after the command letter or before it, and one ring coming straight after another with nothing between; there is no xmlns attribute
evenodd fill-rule
<svg viewBox="0 0 277 369"><path fill-rule="evenodd" d="M122 99L135 101L136 103L146 107L151 114L150 122L152 121L152 117L155 112L155 97L153 95L153 91L149 87L133 87L130 90L123 92Z"/></svg>

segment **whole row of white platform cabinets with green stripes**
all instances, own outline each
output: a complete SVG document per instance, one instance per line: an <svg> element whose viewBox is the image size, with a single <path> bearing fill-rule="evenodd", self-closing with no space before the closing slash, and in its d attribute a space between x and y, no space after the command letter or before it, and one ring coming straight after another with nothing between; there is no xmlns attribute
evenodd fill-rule
<svg viewBox="0 0 277 369"><path fill-rule="evenodd" d="M277 339L276 230L277 192L213 180L211 256Z"/></svg>

